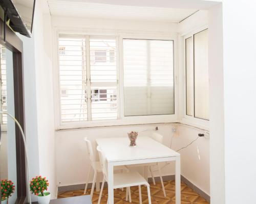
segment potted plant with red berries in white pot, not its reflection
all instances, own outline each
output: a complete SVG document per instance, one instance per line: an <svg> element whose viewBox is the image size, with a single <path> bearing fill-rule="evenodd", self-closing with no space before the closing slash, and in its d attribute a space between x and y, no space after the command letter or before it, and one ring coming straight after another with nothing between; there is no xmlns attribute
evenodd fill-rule
<svg viewBox="0 0 256 204"><path fill-rule="evenodd" d="M30 191L38 198L38 204L49 204L50 193L46 192L49 186L46 177L36 176L30 181Z"/></svg>

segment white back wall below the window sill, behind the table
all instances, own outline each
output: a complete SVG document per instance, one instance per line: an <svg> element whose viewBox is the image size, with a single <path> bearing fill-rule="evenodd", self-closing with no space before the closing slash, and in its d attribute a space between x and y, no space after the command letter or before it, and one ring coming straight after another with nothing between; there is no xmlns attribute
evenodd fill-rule
<svg viewBox="0 0 256 204"><path fill-rule="evenodd" d="M56 132L57 183L60 186L86 183L90 160L86 144L83 142L84 137L88 137L92 141L94 152L96 153L96 138L127 137L127 132L129 131L139 131L139 137L151 135L156 126L159 128L159 133L164 135L164 144L169 146L170 139L173 136L172 126L170 125L102 127ZM162 174L173 175L174 167L163 169ZM92 178L93 173L91 173L90 182L92 182Z"/></svg>

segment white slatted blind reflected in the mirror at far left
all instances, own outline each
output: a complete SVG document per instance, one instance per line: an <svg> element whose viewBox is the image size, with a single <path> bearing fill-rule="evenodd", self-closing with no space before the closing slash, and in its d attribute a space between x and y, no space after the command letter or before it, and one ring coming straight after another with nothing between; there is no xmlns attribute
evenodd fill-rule
<svg viewBox="0 0 256 204"><path fill-rule="evenodd" d="M7 111L6 48L0 45L1 111ZM1 124L7 124L7 115L2 114Z"/></svg>

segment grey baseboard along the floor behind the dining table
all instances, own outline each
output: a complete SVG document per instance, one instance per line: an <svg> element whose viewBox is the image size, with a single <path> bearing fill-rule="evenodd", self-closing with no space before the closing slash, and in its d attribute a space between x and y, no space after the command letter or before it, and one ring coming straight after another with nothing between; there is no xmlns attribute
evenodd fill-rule
<svg viewBox="0 0 256 204"><path fill-rule="evenodd" d="M168 176L163 176L163 180L175 180L175 175L168 175ZM160 177L157 176L155 177L156 182L160 182ZM189 188L193 189L195 192L197 192L201 197L206 199L210 203L210 196L202 191L200 188L195 186L193 183L191 183L187 178L181 175L181 181L185 183ZM149 183L153 183L152 178L148 178ZM101 183L100 183L101 186ZM78 185L70 185L70 186L59 186L58 187L58 192L64 192L64 191L74 191L74 190L81 190L86 187L85 184L78 184ZM104 187L108 187L108 184L105 183ZM88 184L88 189L92 188L92 183Z"/></svg>

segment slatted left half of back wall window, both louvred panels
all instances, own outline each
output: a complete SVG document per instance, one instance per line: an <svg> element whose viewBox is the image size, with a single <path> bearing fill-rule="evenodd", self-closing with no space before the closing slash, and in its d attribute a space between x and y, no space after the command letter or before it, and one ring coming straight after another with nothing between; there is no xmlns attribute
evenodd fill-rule
<svg viewBox="0 0 256 204"><path fill-rule="evenodd" d="M116 38L60 34L58 43L61 122L117 119Z"/></svg>

